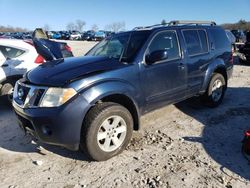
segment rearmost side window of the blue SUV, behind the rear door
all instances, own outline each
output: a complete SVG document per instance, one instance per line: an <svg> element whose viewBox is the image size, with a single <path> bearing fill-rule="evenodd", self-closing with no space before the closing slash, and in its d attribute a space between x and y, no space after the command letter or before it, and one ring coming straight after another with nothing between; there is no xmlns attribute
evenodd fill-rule
<svg viewBox="0 0 250 188"><path fill-rule="evenodd" d="M229 39L223 29L211 29L211 35L214 39L215 49L223 49L230 46Z"/></svg>

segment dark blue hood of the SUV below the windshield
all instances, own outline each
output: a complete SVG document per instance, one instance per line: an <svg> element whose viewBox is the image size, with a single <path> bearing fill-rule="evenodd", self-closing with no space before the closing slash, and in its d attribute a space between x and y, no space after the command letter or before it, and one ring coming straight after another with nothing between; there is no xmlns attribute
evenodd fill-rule
<svg viewBox="0 0 250 188"><path fill-rule="evenodd" d="M107 57L72 57L46 62L28 72L25 80L35 85L63 87L74 80L124 66Z"/></svg>

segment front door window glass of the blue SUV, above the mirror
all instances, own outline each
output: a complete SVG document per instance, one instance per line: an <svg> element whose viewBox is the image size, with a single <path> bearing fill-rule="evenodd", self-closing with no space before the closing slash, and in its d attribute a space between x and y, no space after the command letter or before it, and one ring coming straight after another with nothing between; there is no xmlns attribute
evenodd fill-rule
<svg viewBox="0 0 250 188"><path fill-rule="evenodd" d="M158 50L166 50L168 59L180 57L179 45L175 31L161 32L156 35L149 46L149 53Z"/></svg>

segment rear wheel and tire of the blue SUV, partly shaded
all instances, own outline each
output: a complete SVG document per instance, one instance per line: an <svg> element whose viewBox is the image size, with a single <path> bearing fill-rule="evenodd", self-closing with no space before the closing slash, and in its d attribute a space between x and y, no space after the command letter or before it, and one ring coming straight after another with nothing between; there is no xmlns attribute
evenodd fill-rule
<svg viewBox="0 0 250 188"><path fill-rule="evenodd" d="M202 101L209 107L217 107L222 103L227 85L223 75L214 73Z"/></svg>

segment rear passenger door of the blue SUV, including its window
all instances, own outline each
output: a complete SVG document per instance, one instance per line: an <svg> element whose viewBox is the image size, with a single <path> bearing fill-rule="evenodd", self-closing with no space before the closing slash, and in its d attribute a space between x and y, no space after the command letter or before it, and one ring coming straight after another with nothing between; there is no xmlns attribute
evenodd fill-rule
<svg viewBox="0 0 250 188"><path fill-rule="evenodd" d="M205 29L182 29L186 45L188 95L200 91L211 56Z"/></svg>

